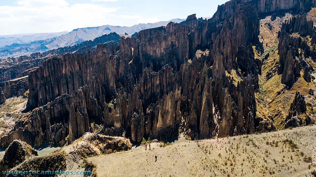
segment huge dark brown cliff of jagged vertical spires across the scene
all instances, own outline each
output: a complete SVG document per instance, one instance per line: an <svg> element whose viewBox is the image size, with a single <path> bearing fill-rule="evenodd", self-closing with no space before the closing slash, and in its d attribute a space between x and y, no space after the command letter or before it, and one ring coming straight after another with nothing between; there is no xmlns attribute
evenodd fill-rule
<svg viewBox="0 0 316 177"><path fill-rule="evenodd" d="M260 17L301 14L279 32L277 71L291 87L302 67L307 80L313 71L301 56L314 56L302 40L309 36L313 43L313 22L302 13L314 6L314 1L232 0L209 20L193 14L115 45L50 57L29 71L29 117L0 144L21 139L34 146L63 145L92 131L91 123L132 142L176 139L179 132L205 139L268 131L273 121L257 117Z"/></svg>

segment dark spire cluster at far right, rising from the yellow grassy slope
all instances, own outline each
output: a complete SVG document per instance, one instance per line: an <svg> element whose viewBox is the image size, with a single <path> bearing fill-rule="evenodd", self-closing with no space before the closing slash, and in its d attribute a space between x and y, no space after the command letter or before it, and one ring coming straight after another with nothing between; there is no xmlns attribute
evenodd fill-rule
<svg viewBox="0 0 316 177"><path fill-rule="evenodd" d="M307 21L305 14L293 17L282 24L279 32L278 74L282 74L281 83L286 84L289 88L292 87L298 77L301 77L302 67L305 67L304 79L307 82L311 82L309 71L313 71L313 69L304 58L313 57L314 54L303 38L307 36L312 37L311 45L313 45L315 43L315 34L313 21Z"/></svg>

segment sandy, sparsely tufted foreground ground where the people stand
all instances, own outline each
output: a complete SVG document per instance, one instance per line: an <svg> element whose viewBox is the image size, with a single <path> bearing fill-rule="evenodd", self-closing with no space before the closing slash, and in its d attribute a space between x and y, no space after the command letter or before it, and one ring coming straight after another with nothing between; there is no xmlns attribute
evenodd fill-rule
<svg viewBox="0 0 316 177"><path fill-rule="evenodd" d="M99 177L312 176L316 126L171 145L152 143L130 151L90 157ZM155 155L158 157L155 162Z"/></svg>

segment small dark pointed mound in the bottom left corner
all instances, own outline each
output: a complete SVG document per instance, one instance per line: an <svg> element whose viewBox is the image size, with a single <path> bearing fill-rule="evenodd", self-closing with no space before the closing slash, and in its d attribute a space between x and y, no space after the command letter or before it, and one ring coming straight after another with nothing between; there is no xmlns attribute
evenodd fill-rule
<svg viewBox="0 0 316 177"><path fill-rule="evenodd" d="M10 170L31 156L37 156L37 151L25 142L14 140L5 150L0 168L2 171ZM4 175L1 173L1 176Z"/></svg>

